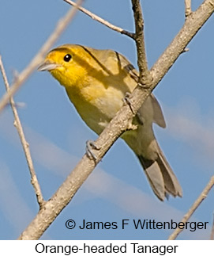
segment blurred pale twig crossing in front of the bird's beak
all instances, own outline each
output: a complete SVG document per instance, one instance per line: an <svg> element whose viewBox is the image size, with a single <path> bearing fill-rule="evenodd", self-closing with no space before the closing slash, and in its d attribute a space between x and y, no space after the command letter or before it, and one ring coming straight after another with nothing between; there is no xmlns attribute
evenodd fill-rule
<svg viewBox="0 0 214 256"><path fill-rule="evenodd" d="M80 6L82 2L83 0L78 0L77 5ZM76 12L77 12L77 8L74 7L71 10L69 10L66 13L66 15L62 17L60 21L58 21L58 24L56 25L54 32L52 32L51 36L48 37L46 43L43 44L43 47L40 48L39 52L35 55L32 61L24 69L24 71L22 71L21 74L17 76L16 81L13 82L12 86L10 86L9 92L4 94L3 97L1 98L0 112L6 106L7 102L9 101L9 97L13 96L13 94L17 92L17 90L24 83L24 81L29 77L29 75L32 74L32 72L36 69L36 67L38 67L39 63L42 62L44 55L50 50L50 48L56 42L56 40L58 40L58 37L66 29L67 25L69 25L69 22L72 20Z"/></svg>

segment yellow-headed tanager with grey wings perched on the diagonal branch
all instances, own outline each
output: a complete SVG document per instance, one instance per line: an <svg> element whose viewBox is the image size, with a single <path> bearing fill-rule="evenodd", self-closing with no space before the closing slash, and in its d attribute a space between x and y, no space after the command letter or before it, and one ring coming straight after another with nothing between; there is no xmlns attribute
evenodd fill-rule
<svg viewBox="0 0 214 256"><path fill-rule="evenodd" d="M63 44L47 53L39 71L49 71L65 87L82 120L100 134L137 86L138 72L126 57L114 50L100 50L80 44ZM150 94L133 117L136 129L121 138L137 155L148 182L160 201L182 197L182 187L163 155L152 124L166 127L163 112Z"/></svg>

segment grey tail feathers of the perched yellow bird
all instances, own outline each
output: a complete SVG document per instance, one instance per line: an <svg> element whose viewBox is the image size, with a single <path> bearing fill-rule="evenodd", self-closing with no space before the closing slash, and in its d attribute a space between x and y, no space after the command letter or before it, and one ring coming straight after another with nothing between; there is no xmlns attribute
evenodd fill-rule
<svg viewBox="0 0 214 256"><path fill-rule="evenodd" d="M169 194L173 197L182 197L182 187L160 148L156 161L145 159L142 155L137 157L144 167L153 192L161 201Z"/></svg>

